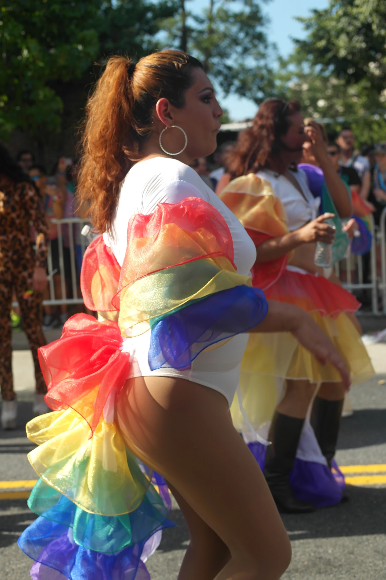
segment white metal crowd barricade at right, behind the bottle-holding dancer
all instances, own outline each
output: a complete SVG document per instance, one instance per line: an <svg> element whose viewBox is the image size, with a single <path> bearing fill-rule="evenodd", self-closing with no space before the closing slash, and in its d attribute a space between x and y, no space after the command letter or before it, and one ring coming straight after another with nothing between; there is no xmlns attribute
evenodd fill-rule
<svg viewBox="0 0 386 580"><path fill-rule="evenodd" d="M385 213L385 212L384 212ZM371 281L364 282L363 281L363 262L362 256L354 256L351 254L350 257L341 260L339 263L335 264L335 273L336 276L340 279L340 270L341 270L341 263L345 262L346 267L346 274L347 274L347 282L343 282L343 288L347 289L348 291L352 292L354 290L365 290L369 289L372 293L372 312L373 314L379 314L378 309L378 280L377 280L377 238L378 238L378 231L374 226L374 219L373 216L370 215L370 233L372 234L372 247L370 249L370 272L371 272ZM384 239L384 238L383 238ZM381 244L381 247L384 244ZM386 259L386 256L385 256ZM358 282L354 282L351 276L351 269L354 267L358 271ZM383 267L385 269L385 278L386 278L386 265L383 259ZM386 288L386 284L385 284ZM385 296L386 296L386 290ZM386 301L384 300L384 311Z"/></svg>

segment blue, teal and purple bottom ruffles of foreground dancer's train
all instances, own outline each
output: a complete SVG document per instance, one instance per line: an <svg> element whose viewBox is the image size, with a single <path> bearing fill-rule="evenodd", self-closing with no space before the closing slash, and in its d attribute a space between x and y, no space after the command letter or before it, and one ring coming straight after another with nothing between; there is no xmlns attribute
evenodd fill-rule
<svg viewBox="0 0 386 580"><path fill-rule="evenodd" d="M152 483L159 486L159 494L150 486L134 512L107 517L84 512L39 480L28 505L41 516L17 542L27 556L42 564L34 565L34 578L49 578L46 567L69 580L134 580L139 569L141 580L147 578L141 561L146 542L175 525L167 519L171 502L166 482L154 473Z"/></svg>

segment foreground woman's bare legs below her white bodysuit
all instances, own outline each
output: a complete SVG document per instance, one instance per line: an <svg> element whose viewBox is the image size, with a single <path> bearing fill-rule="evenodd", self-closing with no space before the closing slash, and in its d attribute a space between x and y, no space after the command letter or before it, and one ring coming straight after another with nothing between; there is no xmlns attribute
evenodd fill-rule
<svg viewBox="0 0 386 580"><path fill-rule="evenodd" d="M263 474L227 411L225 398L215 390L181 379L140 377L126 383L117 421L128 447L166 477L181 501L214 532L215 559L209 561L196 543L197 570L203 572L195 578L210 578L221 564L218 536L231 557L215 580L278 580L291 559L288 535ZM190 516L192 531L193 520L202 530L192 512ZM196 541L192 535L192 550ZM179 578L190 580L192 575Z"/></svg>

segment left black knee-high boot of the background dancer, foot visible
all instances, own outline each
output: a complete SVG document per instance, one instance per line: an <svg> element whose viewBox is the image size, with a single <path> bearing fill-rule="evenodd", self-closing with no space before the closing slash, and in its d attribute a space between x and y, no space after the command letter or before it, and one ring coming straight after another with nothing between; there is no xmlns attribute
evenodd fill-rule
<svg viewBox="0 0 386 580"><path fill-rule="evenodd" d="M312 503L295 498L288 479L303 424L304 419L275 412L269 432L271 445L267 447L264 476L278 508L286 513L306 513L315 509Z"/></svg>

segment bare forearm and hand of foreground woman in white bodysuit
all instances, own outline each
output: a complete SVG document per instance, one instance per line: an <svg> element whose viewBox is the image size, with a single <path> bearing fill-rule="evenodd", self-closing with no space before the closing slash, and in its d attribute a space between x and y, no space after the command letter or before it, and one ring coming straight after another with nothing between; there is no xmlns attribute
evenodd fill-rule
<svg viewBox="0 0 386 580"><path fill-rule="evenodd" d="M291 332L296 340L325 365L328 362L339 371L344 388L350 387L350 374L328 336L303 310L291 304L268 300L266 317L249 332Z"/></svg>

